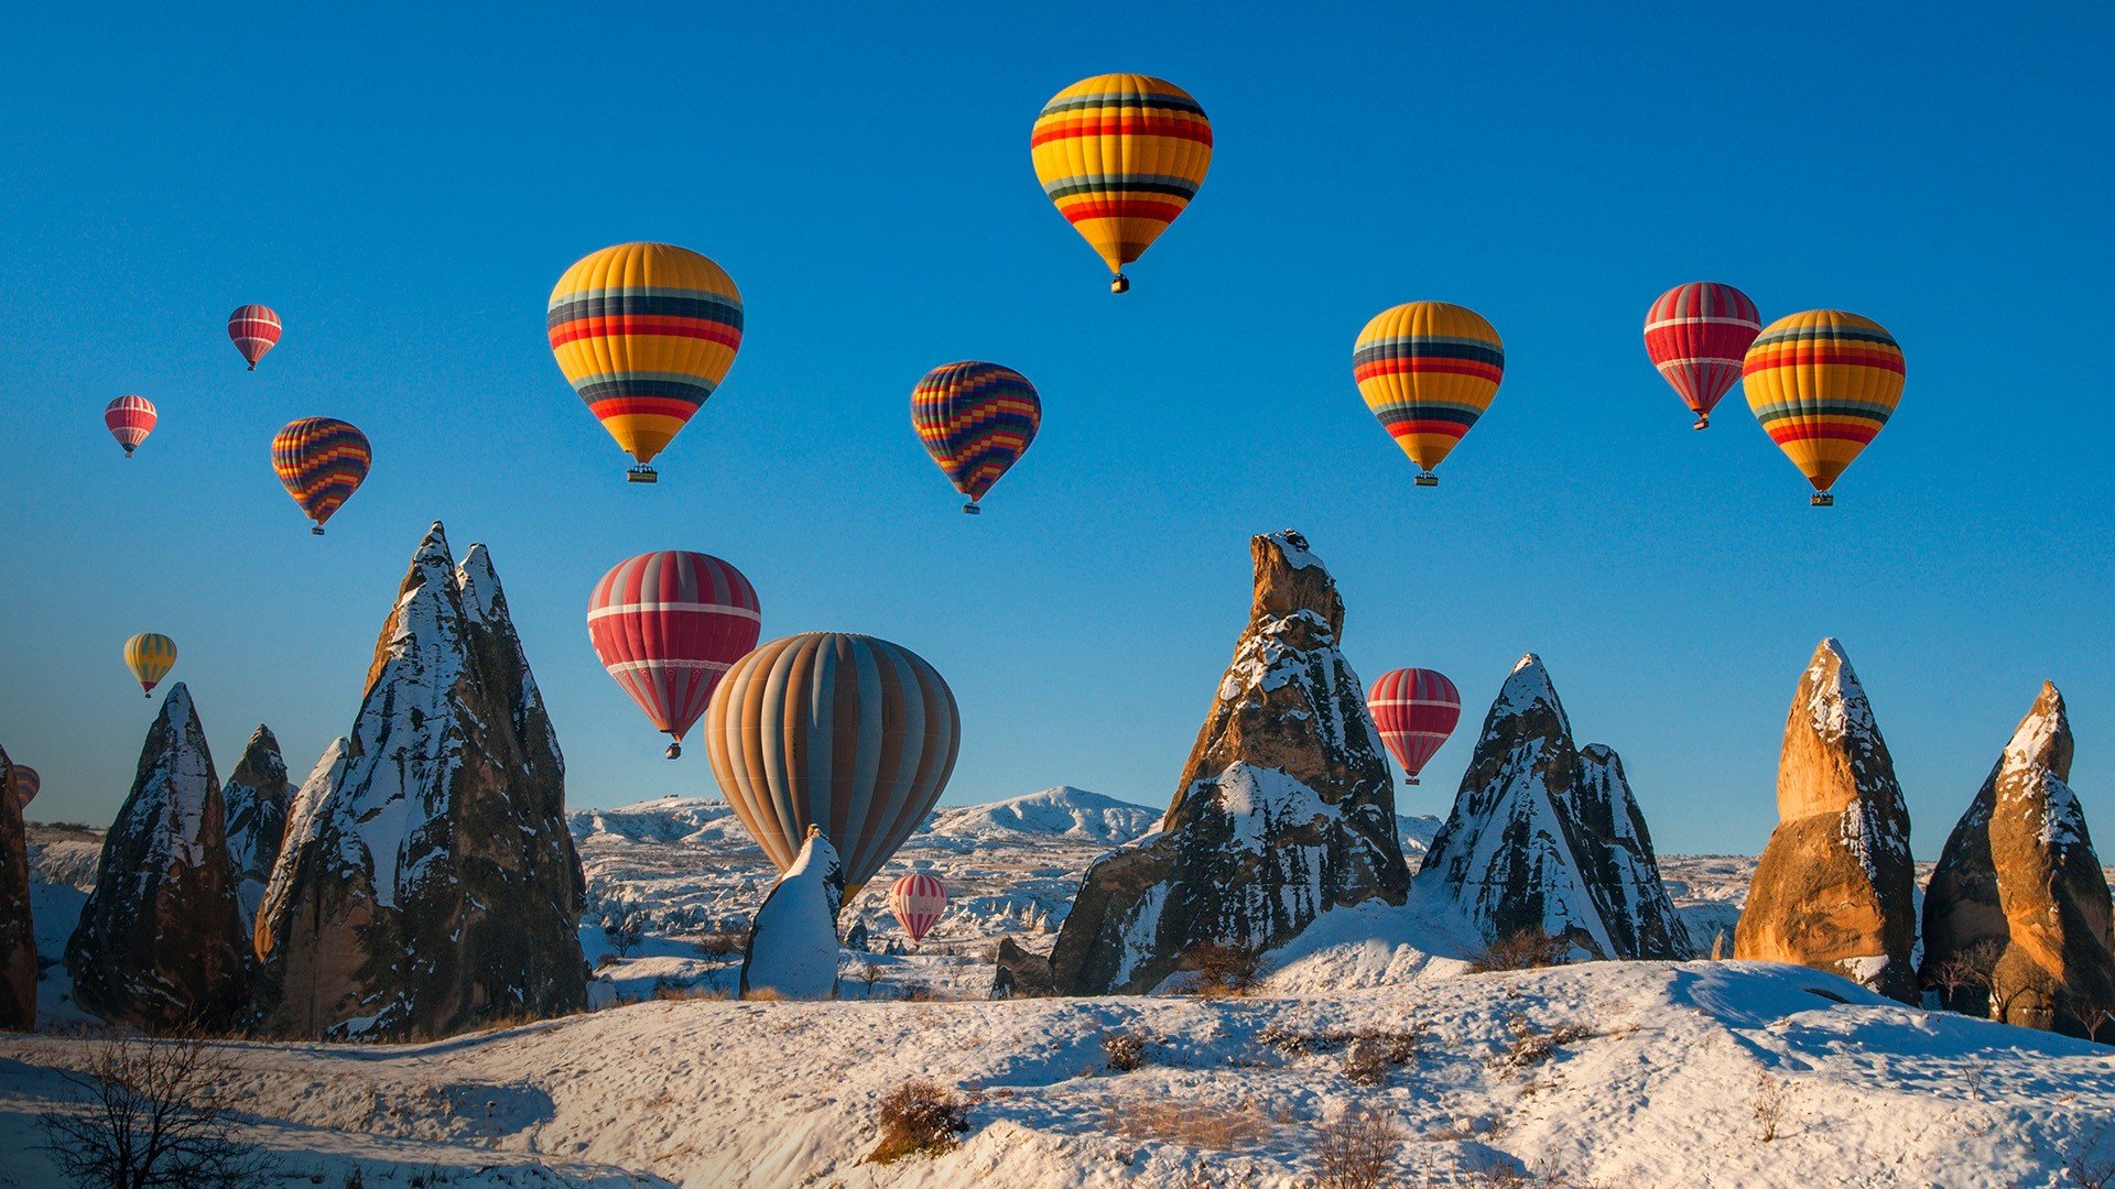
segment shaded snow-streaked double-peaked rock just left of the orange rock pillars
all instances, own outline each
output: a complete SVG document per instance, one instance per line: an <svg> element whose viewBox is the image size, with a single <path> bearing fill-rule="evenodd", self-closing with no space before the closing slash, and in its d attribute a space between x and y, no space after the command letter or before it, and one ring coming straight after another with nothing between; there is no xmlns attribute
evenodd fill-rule
<svg viewBox="0 0 2115 1189"><path fill-rule="evenodd" d="M1571 743L1533 654L1512 666L1483 719L1417 893L1453 901L1493 941L1525 931L1595 958L1692 956L1622 760Z"/></svg>

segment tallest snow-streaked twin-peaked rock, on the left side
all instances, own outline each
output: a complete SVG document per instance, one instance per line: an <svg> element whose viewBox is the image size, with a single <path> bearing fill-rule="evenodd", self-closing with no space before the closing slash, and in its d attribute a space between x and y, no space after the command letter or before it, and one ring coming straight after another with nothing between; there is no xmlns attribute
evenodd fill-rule
<svg viewBox="0 0 2115 1189"><path fill-rule="evenodd" d="M565 762L482 546L436 523L351 736L294 795L258 916L260 1026L438 1037L586 1005Z"/></svg>

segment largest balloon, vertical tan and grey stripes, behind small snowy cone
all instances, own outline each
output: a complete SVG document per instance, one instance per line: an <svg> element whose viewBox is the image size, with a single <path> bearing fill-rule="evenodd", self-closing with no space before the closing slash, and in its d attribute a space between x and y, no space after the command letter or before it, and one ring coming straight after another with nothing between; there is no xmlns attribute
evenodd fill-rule
<svg viewBox="0 0 2115 1189"><path fill-rule="evenodd" d="M882 870L954 772L962 717L918 654L802 633L734 662L704 711L713 776L785 872L808 825L844 861L844 899Z"/></svg>

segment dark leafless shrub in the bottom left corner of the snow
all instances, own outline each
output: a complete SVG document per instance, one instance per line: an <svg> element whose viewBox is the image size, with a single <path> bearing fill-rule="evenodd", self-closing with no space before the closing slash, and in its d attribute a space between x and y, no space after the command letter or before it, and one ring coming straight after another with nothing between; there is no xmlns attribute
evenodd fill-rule
<svg viewBox="0 0 2115 1189"><path fill-rule="evenodd" d="M44 1151L70 1185L250 1189L275 1174L271 1155L237 1140L235 1068L197 1032L108 1039L66 1079L87 1111L44 1115Z"/></svg>

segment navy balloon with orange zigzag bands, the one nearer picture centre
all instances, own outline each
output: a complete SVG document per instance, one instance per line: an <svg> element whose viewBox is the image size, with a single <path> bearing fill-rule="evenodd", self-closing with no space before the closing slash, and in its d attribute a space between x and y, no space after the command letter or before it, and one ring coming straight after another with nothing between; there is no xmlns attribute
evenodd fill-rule
<svg viewBox="0 0 2115 1189"><path fill-rule="evenodd" d="M1007 474L1036 440L1043 400L1022 372L998 364L943 364L912 389L912 427L926 453L969 497L962 512Z"/></svg>

